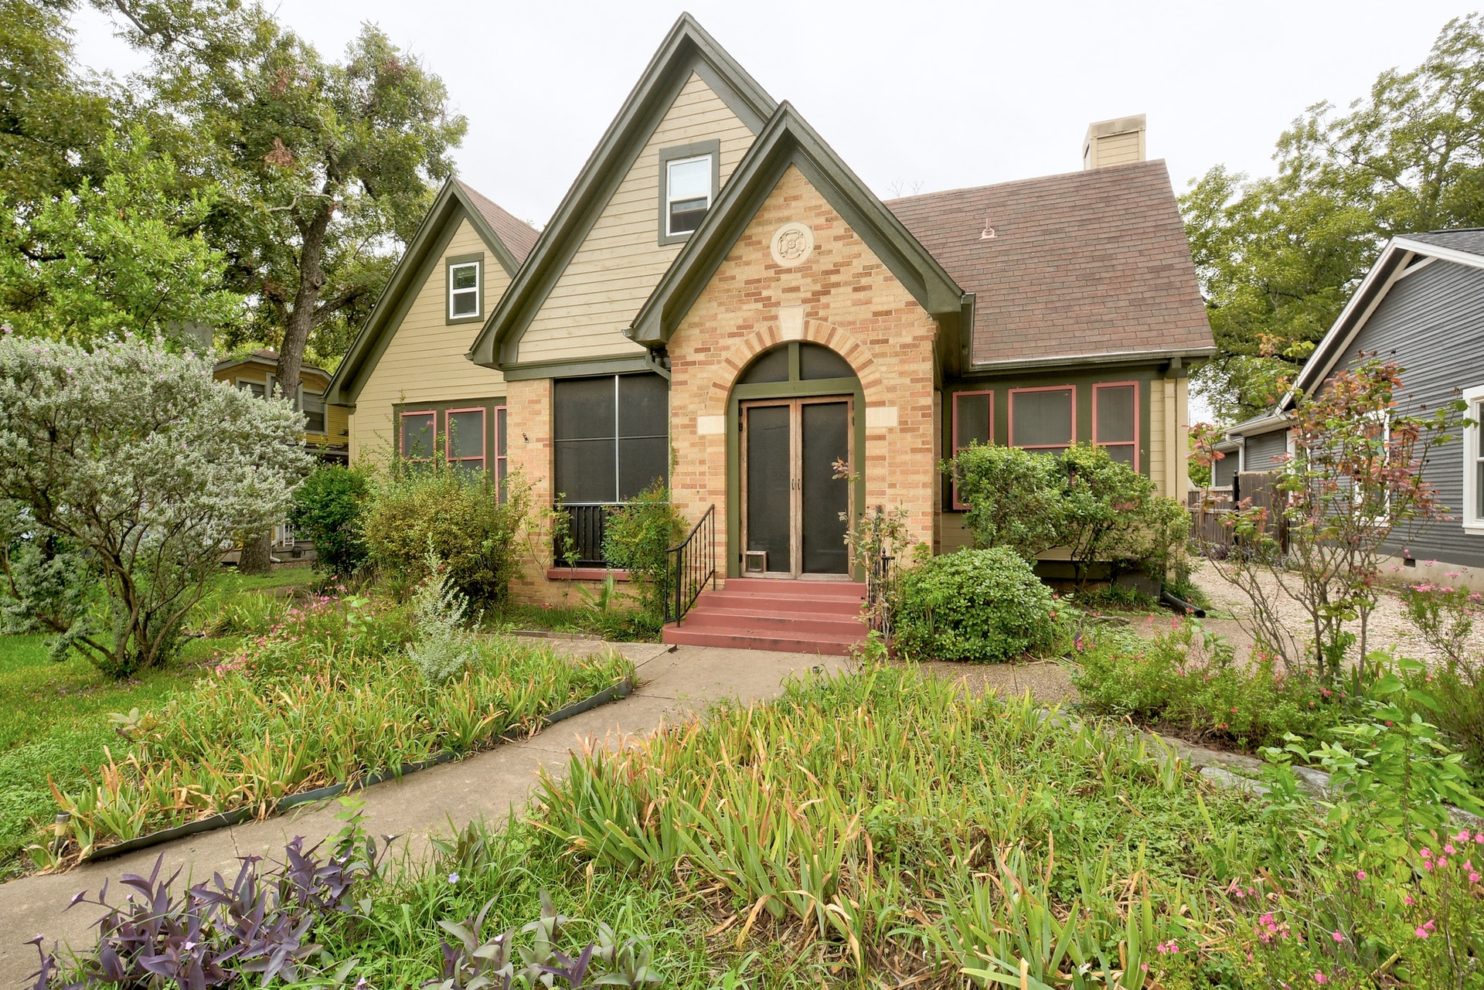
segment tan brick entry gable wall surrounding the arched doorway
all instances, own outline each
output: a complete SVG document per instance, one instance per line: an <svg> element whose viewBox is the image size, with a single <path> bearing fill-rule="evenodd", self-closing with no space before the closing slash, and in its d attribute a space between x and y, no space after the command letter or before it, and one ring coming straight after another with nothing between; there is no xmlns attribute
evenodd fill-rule
<svg viewBox="0 0 1484 990"><path fill-rule="evenodd" d="M779 267L769 249L785 223L806 224L815 249ZM727 436L697 430L727 413L732 383L752 356L785 340L784 310L803 310L803 340L850 362L865 395L867 506L904 506L911 540L932 543L938 491L933 408L936 324L795 168L779 180L669 341L671 490L687 519L717 506L717 570L726 574ZM785 319L792 319L787 316ZM895 424L890 424L895 416Z"/></svg>

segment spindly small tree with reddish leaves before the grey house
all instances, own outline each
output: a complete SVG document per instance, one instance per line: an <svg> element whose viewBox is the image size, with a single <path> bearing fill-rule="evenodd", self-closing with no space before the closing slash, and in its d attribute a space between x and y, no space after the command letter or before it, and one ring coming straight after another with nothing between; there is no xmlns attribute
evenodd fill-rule
<svg viewBox="0 0 1484 990"><path fill-rule="evenodd" d="M1252 603L1239 620L1294 672L1336 677L1356 638L1365 656L1382 548L1398 527L1445 514L1425 468L1463 422L1465 405L1401 411L1401 374L1395 362L1370 358L1318 395L1300 396L1294 453L1278 475L1287 546L1269 509L1244 502L1229 517L1241 552L1212 560ZM1303 610L1307 629L1287 625L1285 600Z"/></svg>

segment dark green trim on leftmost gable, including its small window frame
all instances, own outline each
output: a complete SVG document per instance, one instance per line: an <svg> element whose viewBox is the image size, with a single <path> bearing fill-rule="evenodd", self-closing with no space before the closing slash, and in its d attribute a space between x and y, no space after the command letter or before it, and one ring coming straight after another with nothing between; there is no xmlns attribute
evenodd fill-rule
<svg viewBox="0 0 1484 990"><path fill-rule="evenodd" d="M427 282L438 258L448 249L448 242L453 240L462 220L469 220L479 233L479 237L490 248L490 252L500 263L500 267L505 269L506 275L513 278L519 269L515 255L510 254L490 224L485 223L459 180L450 178L438 190L433 205L429 206L423 221L417 226L413 239L407 242L407 249L398 260L396 267L392 269L392 276L381 289L381 295L377 297L375 306L371 307L371 315L361 327L361 331L356 332L356 338L350 343L350 349L346 352L340 367L335 368L335 374L329 380L329 387L325 389L326 402L337 405L355 404L356 396L361 395L361 387L365 384L365 378L375 368L381 355L386 353L392 335L402 325L402 319L407 318L407 310L411 309L413 300ZM487 272L481 269L479 276L485 278L485 275ZM482 295L484 292L481 291ZM448 303L444 300L445 313L448 312L447 306ZM482 298L479 307L482 312Z"/></svg>

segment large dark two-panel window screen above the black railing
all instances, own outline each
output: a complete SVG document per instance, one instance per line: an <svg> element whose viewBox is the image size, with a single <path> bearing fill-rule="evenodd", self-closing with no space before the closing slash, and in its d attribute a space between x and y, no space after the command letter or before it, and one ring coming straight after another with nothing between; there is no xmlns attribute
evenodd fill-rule
<svg viewBox="0 0 1484 990"><path fill-rule="evenodd" d="M626 502L668 476L669 383L660 376L567 378L552 401L564 502Z"/></svg>

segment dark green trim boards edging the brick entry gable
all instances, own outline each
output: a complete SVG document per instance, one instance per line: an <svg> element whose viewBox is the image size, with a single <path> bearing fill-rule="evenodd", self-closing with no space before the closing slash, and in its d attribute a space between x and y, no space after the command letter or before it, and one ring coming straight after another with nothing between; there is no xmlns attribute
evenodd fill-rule
<svg viewBox="0 0 1484 990"><path fill-rule="evenodd" d="M669 341L789 166L803 172L913 298L962 338L963 318L972 313L972 297L959 288L938 260L788 101L779 104L763 134L748 148L700 227L640 309L628 335L647 347ZM963 346L957 341L947 349L947 355L962 352Z"/></svg>

